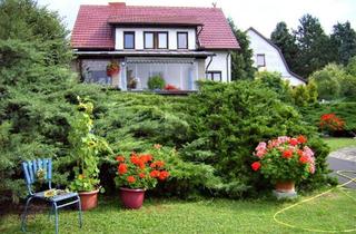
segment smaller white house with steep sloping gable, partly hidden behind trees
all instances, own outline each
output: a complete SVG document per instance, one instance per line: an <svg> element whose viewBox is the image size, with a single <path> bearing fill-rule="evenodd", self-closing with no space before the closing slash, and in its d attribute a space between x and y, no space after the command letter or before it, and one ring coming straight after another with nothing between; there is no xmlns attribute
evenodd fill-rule
<svg viewBox="0 0 356 234"><path fill-rule="evenodd" d="M289 80L291 86L305 85L306 80L294 74L283 56L280 49L274 45L270 40L264 37L254 28L249 28L246 31L250 48L253 49L254 65L259 71L277 71L281 74L281 77Z"/></svg>

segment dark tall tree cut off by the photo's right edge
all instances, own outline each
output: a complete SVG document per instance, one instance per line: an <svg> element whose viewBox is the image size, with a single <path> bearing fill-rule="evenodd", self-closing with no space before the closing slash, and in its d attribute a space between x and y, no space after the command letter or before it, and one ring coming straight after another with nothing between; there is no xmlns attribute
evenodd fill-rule
<svg viewBox="0 0 356 234"><path fill-rule="evenodd" d="M336 62L346 66L349 59L356 56L356 32L350 27L350 23L336 23L334 31L330 35L332 43L337 48Z"/></svg>

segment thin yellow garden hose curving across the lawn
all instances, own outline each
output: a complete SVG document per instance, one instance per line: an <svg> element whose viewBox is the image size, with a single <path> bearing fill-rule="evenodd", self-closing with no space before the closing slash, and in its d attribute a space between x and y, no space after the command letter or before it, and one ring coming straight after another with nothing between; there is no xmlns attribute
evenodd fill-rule
<svg viewBox="0 0 356 234"><path fill-rule="evenodd" d="M340 176L343 176L343 177L345 177L345 178L348 178L349 181L346 182L346 183L344 183L344 184L340 184L340 185L338 185L338 186L336 186L336 187L333 187L333 188L330 188L330 189L328 189L328 191L326 191L326 192L323 192L323 193L320 193L320 194L317 194L317 195L315 195L315 196L313 196L313 197L310 197L310 198L303 199L303 201L300 201L300 202L298 202L298 203L296 203L296 204L293 204L293 205L290 205L290 206L287 206L287 207L285 207L285 208L278 211L278 212L274 215L274 221L275 221L276 223L280 224L280 225L284 225L284 226L287 226L287 227L290 227L290 228L303 230L303 231L308 231L308 232L314 232L314 233L349 233L349 232L356 232L356 228L352 228L352 230L317 230L317 228L304 228L304 227L299 227L299 226L296 226L296 225L293 225L293 224L285 223L285 222L279 221L279 220L277 218L277 216L278 216L279 214L281 214L281 213L284 213L284 212L286 212L286 211L288 211L288 209L290 209L290 208L293 208L293 207L295 207L295 206L297 206L297 205L300 205L300 204L303 204L303 203L307 203L307 202L310 202L312 199L315 199L315 198L318 198L318 197L320 197L320 196L324 196L325 194L328 194L328 193L330 193L332 191L334 191L334 189L336 189L336 188L339 188L339 187L343 187L343 186L345 186L345 185L347 185L347 184L356 183L356 177L353 178L353 177L347 176L347 175L345 175L345 174L343 174L343 173L353 173L353 174L356 174L355 170L337 170L337 172L336 172L337 175L340 175ZM343 191L342 191L342 192L343 192ZM345 192L343 192L343 193L356 202L355 197L352 197L350 195L346 194Z"/></svg>

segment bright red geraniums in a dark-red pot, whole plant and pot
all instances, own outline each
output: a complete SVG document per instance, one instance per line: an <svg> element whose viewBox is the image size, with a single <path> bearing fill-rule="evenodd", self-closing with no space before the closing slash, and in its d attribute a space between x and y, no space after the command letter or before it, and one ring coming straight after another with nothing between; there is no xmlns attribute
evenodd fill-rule
<svg viewBox="0 0 356 234"><path fill-rule="evenodd" d="M127 208L140 208L146 189L156 187L158 182L169 176L165 162L155 160L151 154L119 155L116 160L116 184L120 187L120 198Z"/></svg>

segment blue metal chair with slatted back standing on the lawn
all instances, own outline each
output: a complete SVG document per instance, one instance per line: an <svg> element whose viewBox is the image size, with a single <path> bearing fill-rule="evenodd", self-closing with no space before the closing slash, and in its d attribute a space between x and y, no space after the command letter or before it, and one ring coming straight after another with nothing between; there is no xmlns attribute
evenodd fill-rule
<svg viewBox="0 0 356 234"><path fill-rule="evenodd" d="M26 201L24 211L21 218L21 230L26 232L26 218L28 206L33 198L42 199L51 205L49 215L55 213L55 224L56 224L56 234L58 234L58 209L65 206L72 204L78 205L79 209L79 226L82 226L81 221L81 205L80 197L78 193L63 193L55 196L44 196L46 191L43 192L33 192L32 184L38 179L43 179L43 183L48 183L48 188L51 189L51 178L52 178L52 160L50 158L39 158L34 160L28 160L22 163L22 169L24 174L24 181L28 187L29 195ZM38 178L40 173L41 178Z"/></svg>

